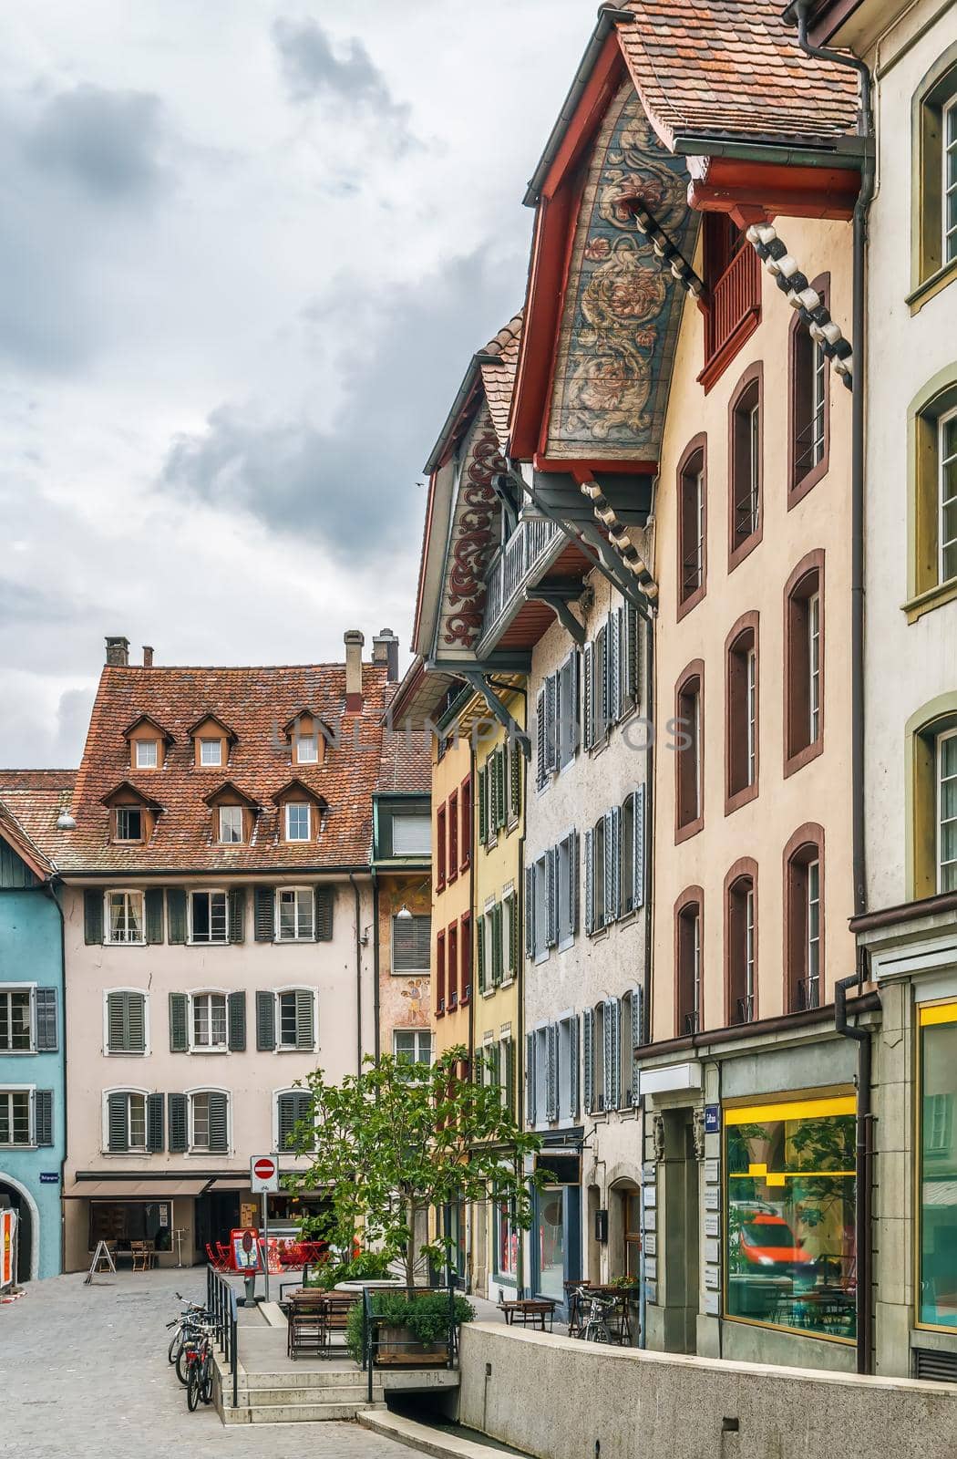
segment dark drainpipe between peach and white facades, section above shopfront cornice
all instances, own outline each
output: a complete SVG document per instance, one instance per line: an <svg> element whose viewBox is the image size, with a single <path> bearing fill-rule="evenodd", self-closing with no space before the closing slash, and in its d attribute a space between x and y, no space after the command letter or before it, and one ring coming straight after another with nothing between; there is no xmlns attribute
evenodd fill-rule
<svg viewBox="0 0 957 1459"><path fill-rule="evenodd" d="M871 112L871 73L856 55L811 45L808 41L810 0L798 0L794 16L798 23L798 45L805 55L849 66L861 77L858 134L867 140L861 191L853 204L853 301L851 341L853 344L852 376L852 445L851 445L851 795L852 795L852 865L855 916L867 910L865 846L864 846L864 384L865 384L865 252L867 214L874 197L874 117Z"/></svg>

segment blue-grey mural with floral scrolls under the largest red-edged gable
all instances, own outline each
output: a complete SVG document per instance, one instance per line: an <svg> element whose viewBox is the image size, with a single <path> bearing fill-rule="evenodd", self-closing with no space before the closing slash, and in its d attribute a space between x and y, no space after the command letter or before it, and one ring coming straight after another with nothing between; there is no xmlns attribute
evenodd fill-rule
<svg viewBox="0 0 957 1459"><path fill-rule="evenodd" d="M684 290L621 198L640 196L690 260L697 214L630 82L598 131L575 231L547 455L656 460Z"/></svg>

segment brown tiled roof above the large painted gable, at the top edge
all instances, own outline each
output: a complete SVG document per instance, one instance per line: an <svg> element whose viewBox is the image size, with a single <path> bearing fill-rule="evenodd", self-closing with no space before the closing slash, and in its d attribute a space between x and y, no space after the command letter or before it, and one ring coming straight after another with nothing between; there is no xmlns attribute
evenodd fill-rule
<svg viewBox="0 0 957 1459"><path fill-rule="evenodd" d="M858 82L805 55L769 0L629 0L619 35L665 146L681 134L832 144L855 131Z"/></svg>

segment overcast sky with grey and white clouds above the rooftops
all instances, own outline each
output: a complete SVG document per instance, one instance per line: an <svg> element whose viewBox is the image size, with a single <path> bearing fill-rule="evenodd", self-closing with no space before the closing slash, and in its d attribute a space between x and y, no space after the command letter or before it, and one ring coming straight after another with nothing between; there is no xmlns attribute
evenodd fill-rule
<svg viewBox="0 0 957 1459"><path fill-rule="evenodd" d="M425 461L524 295L586 0L10 0L0 763L76 765L104 635L408 643Z"/></svg>

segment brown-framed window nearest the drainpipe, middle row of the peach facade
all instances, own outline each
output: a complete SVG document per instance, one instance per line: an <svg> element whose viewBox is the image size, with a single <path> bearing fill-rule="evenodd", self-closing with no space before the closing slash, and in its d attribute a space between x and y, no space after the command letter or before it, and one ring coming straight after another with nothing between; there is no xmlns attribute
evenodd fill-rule
<svg viewBox="0 0 957 1459"><path fill-rule="evenodd" d="M785 588L785 775L824 748L824 553L801 559Z"/></svg>

